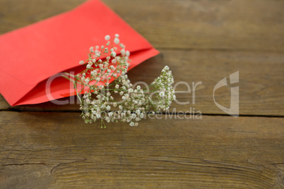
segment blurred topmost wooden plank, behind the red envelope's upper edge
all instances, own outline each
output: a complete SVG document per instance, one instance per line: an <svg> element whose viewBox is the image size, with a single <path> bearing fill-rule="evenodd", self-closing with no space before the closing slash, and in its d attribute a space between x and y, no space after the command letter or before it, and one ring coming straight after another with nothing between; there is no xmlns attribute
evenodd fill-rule
<svg viewBox="0 0 284 189"><path fill-rule="evenodd" d="M1 0L0 33L68 11L81 2ZM284 1L104 2L158 48L284 51Z"/></svg>

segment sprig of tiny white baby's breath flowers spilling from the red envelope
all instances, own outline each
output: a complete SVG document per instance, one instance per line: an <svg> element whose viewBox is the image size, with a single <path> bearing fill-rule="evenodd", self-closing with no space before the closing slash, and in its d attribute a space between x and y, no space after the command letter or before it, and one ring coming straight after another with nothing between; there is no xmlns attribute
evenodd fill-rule
<svg viewBox="0 0 284 189"><path fill-rule="evenodd" d="M126 75L131 61L129 51L119 41L119 35L113 40L107 35L105 40L105 46L90 47L88 59L79 62L86 66L85 70L74 75L76 83L83 85L81 92L86 91L80 107L85 123L100 119L102 127L105 121L138 126L146 114L169 109L175 99L169 67L165 66L151 85L134 87Z"/></svg>

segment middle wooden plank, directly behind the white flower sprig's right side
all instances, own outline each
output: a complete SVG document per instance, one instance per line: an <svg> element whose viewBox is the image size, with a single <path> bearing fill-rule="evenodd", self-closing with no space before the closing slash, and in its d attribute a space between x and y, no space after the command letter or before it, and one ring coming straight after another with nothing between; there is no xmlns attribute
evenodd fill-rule
<svg viewBox="0 0 284 189"><path fill-rule="evenodd" d="M182 51L162 50L158 56L141 63L129 71L132 83L151 83L164 66L170 66L177 91L186 92L184 84L189 83L190 93L178 93L177 102L170 111L196 109L202 114L225 114L213 100L213 89L218 81L239 71L239 83L215 90L215 100L230 107L230 87L239 86L239 114L242 115L284 115L284 55L278 53L233 52L233 51ZM195 98L192 83L196 86ZM195 104L193 102L195 101ZM3 102L3 100L2 100ZM179 102L189 104L180 104ZM3 102L4 103L4 102ZM7 104L6 104L7 105ZM3 106L2 106L3 107ZM16 106L20 111L76 111L78 104L56 105L52 103Z"/></svg>

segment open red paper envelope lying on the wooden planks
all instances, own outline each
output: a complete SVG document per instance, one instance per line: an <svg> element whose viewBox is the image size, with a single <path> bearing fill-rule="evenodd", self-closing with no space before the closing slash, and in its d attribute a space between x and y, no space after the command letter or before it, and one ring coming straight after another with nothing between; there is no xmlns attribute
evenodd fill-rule
<svg viewBox="0 0 284 189"><path fill-rule="evenodd" d="M159 52L105 4L90 0L66 13L0 35L0 92L11 106L37 104L75 94L69 80L48 78L85 68L91 46L119 34L131 52L131 66ZM49 80L50 81L50 80ZM49 85L50 84L50 85Z"/></svg>

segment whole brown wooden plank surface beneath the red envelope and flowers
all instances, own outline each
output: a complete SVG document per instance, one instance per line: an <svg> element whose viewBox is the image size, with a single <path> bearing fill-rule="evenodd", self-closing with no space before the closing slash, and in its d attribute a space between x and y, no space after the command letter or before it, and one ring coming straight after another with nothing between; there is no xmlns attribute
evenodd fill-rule
<svg viewBox="0 0 284 189"><path fill-rule="evenodd" d="M0 0L0 33L82 2ZM11 107L0 97L0 188L284 188L284 1L104 2L160 51L131 81L150 83L168 65L176 83L202 82L195 104L177 94L190 103L172 104L172 117L100 129L78 104ZM236 71L238 118L213 101ZM230 87L215 92L219 104L230 106ZM202 118L184 118L190 108Z"/></svg>

